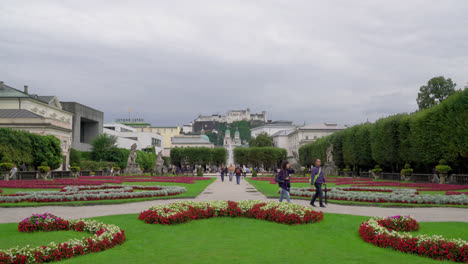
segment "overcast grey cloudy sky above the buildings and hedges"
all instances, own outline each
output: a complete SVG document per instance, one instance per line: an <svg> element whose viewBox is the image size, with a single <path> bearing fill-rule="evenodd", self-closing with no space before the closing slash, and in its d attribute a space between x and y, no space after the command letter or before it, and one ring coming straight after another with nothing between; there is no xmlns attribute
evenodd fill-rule
<svg viewBox="0 0 468 264"><path fill-rule="evenodd" d="M355 124L416 110L434 76L468 82L466 0L2 0L0 14L0 80L106 121L249 107Z"/></svg>

